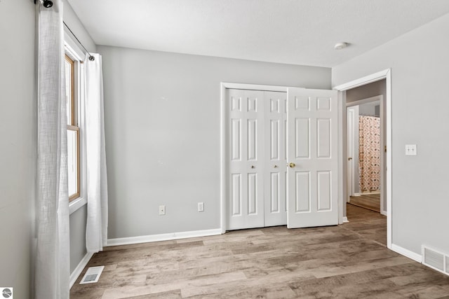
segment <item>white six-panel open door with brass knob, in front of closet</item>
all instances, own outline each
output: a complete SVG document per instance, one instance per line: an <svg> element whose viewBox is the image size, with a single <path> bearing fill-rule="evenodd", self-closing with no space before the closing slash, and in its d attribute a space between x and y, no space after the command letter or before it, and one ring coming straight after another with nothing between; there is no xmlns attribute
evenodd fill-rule
<svg viewBox="0 0 449 299"><path fill-rule="evenodd" d="M288 228L337 225L337 91L288 90Z"/></svg>

